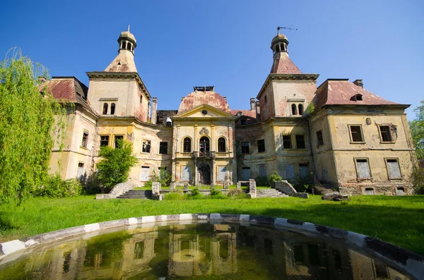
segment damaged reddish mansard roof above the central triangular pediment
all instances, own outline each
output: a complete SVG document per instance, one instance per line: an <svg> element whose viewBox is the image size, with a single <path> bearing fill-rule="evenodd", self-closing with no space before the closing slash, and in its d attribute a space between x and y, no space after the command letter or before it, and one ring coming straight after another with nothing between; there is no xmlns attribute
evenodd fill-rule
<svg viewBox="0 0 424 280"><path fill-rule="evenodd" d="M216 109L230 113L227 99L214 91L213 86L209 87L194 87L194 92L189 93L184 97L179 104L178 113L187 111L201 104L208 104Z"/></svg>

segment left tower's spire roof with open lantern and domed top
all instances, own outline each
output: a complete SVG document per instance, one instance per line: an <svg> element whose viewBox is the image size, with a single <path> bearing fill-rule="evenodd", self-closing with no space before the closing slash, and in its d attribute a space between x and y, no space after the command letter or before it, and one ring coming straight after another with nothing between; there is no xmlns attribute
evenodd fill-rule
<svg viewBox="0 0 424 280"><path fill-rule="evenodd" d="M118 55L107 66L105 72L137 72L134 62L134 49L137 47L136 37L129 32L129 25L128 30L119 35L118 43Z"/></svg>

